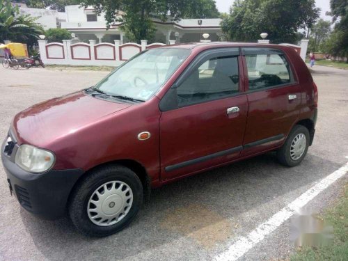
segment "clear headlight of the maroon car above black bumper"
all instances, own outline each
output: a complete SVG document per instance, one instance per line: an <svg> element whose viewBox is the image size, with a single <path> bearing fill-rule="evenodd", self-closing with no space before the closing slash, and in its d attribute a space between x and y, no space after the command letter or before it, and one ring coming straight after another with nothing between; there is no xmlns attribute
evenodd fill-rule
<svg viewBox="0 0 348 261"><path fill-rule="evenodd" d="M52 168L54 159L52 152L24 144L17 150L15 163L24 171L42 173Z"/></svg>

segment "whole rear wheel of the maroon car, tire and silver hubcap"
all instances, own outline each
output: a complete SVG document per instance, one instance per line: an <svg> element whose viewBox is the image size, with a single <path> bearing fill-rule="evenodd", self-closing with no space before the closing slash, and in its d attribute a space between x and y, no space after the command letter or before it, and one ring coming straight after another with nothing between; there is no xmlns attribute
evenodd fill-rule
<svg viewBox="0 0 348 261"><path fill-rule="evenodd" d="M306 141L303 137L306 139ZM296 144L296 141L300 140L301 142ZM292 128L289 136L287 136L283 147L277 151L278 161L280 162L280 164L288 167L299 165L303 158L306 157L309 143L310 134L308 129L302 125L295 125L294 128ZM292 148L294 150L292 150Z"/></svg>

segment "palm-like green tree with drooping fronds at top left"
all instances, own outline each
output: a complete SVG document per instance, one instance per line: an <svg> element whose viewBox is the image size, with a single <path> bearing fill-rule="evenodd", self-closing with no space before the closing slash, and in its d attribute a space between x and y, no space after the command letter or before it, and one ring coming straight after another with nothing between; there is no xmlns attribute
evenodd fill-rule
<svg viewBox="0 0 348 261"><path fill-rule="evenodd" d="M35 17L20 15L17 7L8 0L0 0L0 42L11 40L23 42L31 47L43 29Z"/></svg>

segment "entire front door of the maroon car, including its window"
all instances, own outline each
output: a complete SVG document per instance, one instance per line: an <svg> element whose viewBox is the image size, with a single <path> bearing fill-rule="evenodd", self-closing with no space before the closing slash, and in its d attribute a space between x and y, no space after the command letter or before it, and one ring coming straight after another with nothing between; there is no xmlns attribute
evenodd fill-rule
<svg viewBox="0 0 348 261"><path fill-rule="evenodd" d="M161 100L162 180L239 157L247 113L240 59L237 48L200 54Z"/></svg>

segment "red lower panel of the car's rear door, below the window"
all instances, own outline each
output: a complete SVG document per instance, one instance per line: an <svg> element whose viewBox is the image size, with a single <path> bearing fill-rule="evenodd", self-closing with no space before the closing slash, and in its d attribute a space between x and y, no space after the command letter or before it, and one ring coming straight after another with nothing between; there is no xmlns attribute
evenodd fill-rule
<svg viewBox="0 0 348 261"><path fill-rule="evenodd" d="M296 98L289 100L289 95L296 95ZM244 136L246 148L244 148L242 155L267 150L267 148L283 143L292 125L299 118L301 88L299 84L295 84L248 93L248 108L248 121ZM271 137L274 137L274 141L248 148L247 144L249 143Z"/></svg>

